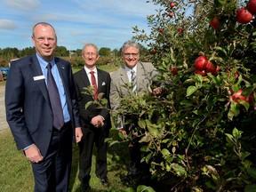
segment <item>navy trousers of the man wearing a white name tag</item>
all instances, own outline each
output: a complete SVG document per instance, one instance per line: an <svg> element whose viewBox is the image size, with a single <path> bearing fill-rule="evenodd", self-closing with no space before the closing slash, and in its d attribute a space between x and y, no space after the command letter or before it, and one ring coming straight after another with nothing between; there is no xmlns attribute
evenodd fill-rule
<svg viewBox="0 0 256 192"><path fill-rule="evenodd" d="M52 131L52 140L44 160L32 164L35 192L68 191L72 162L73 130L69 122Z"/></svg>

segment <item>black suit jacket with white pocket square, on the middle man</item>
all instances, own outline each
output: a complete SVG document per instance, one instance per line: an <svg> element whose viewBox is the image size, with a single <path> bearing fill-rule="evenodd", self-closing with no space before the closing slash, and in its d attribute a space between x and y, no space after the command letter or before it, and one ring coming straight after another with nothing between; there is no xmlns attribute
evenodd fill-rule
<svg viewBox="0 0 256 192"><path fill-rule="evenodd" d="M98 71L98 94L103 93L103 98L108 100L107 108L110 108L109 105L109 89L110 89L110 75L108 72L100 70L97 68ZM81 70L77 71L74 74L75 84L76 84L76 95L77 100L79 103L79 112L80 117L84 121L85 126L90 126L90 122L92 117L94 116L103 116L105 119L105 124L103 128L108 126L110 122L109 110L107 108L99 108L97 105L90 105L88 108L85 109L85 104L89 101L93 101L93 95L84 94L84 87L90 86L89 78L85 72L85 69L82 68ZM83 123L82 121L82 123Z"/></svg>

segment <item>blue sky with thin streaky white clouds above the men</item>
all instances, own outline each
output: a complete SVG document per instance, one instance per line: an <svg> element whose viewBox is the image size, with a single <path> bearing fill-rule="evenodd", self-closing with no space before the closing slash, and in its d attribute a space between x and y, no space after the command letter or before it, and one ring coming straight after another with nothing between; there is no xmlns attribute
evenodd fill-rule
<svg viewBox="0 0 256 192"><path fill-rule="evenodd" d="M0 0L0 48L33 46L33 26L49 22L58 45L68 50L93 43L111 50L132 39L132 27L150 31L147 16L156 5L147 0Z"/></svg>

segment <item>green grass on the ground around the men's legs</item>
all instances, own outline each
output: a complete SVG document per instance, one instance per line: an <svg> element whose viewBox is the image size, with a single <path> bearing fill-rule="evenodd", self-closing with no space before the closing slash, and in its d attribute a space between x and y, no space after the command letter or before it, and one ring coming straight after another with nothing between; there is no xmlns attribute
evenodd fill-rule
<svg viewBox="0 0 256 192"><path fill-rule="evenodd" d="M110 130L110 137L118 137L116 130ZM34 179L32 168L28 160L25 158L21 151L18 151L12 133L9 129L0 132L0 191L3 192L18 192L18 191L33 191ZM116 144L108 148L108 187L101 185L100 180L95 175L95 154L96 148L94 148L92 157L92 178L90 180L90 186L92 191L112 191L112 192L125 192L129 191L129 188L136 188L136 185L132 184L124 186L120 180L120 176L126 173L129 164L127 158L129 156L127 146L125 143ZM77 178L78 174L78 146L73 145L73 162L72 172L69 182L69 192L82 192L80 182Z"/></svg>

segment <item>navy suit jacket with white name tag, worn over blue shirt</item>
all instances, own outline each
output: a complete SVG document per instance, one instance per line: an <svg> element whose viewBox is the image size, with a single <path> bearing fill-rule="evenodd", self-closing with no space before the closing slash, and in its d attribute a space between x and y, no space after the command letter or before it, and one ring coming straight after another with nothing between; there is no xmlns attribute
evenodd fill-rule
<svg viewBox="0 0 256 192"><path fill-rule="evenodd" d="M80 127L70 63L55 58L73 127ZM52 137L52 108L36 54L12 62L5 89L6 118L18 149L35 143L45 156ZM70 137L73 137L72 135Z"/></svg>

